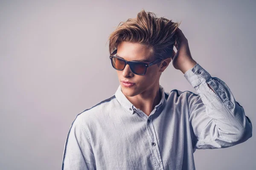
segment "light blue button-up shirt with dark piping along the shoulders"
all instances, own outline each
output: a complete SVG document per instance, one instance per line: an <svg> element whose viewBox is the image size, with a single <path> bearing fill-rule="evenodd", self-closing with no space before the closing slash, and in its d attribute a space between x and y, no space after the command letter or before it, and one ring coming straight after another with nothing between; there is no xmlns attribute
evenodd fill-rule
<svg viewBox="0 0 256 170"><path fill-rule="evenodd" d="M169 93L160 85L161 100L149 116L120 85L113 96L78 114L62 170L195 170L196 149L230 147L252 137L250 119L221 79L198 63L184 77L198 94Z"/></svg>

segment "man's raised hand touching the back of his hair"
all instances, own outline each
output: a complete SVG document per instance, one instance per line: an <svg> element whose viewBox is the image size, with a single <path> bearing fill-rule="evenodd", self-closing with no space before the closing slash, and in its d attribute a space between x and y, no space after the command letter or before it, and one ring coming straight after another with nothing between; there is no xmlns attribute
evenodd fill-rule
<svg viewBox="0 0 256 170"><path fill-rule="evenodd" d="M172 65L175 69L180 70L183 74L189 69L193 68L197 62L192 59L189 51L189 43L180 28L177 28L175 34L177 34L177 40L175 42L175 48L177 52L173 50Z"/></svg>

